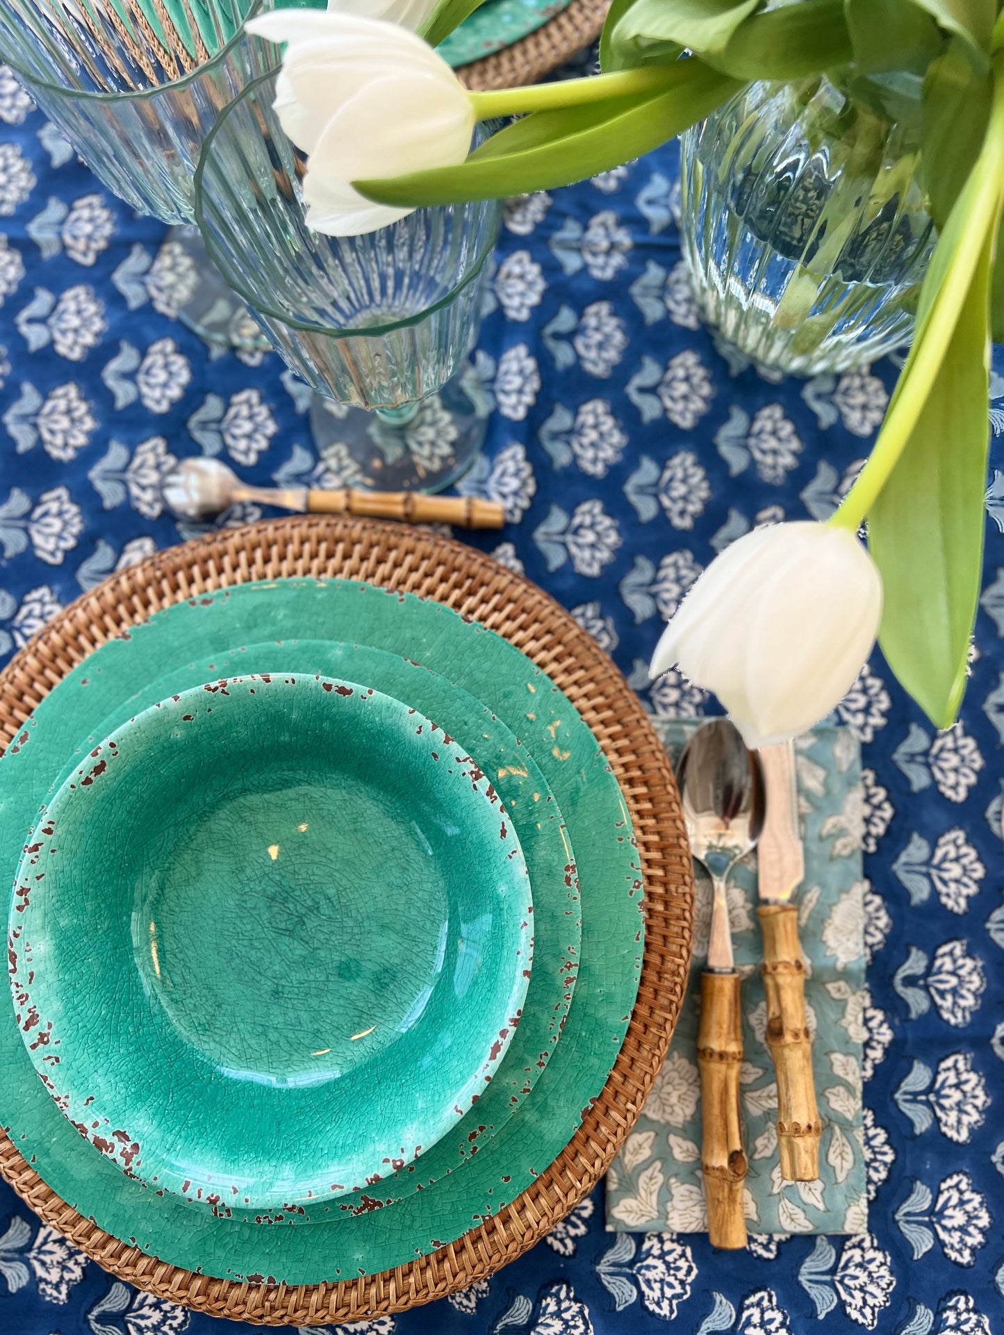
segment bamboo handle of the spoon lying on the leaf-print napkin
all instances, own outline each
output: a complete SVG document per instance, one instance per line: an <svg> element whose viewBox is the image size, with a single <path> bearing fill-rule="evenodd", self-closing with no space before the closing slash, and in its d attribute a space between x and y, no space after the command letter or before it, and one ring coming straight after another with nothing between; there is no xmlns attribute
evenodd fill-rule
<svg viewBox="0 0 1004 1335"><path fill-rule="evenodd" d="M712 1247L746 1246L742 1184L746 1155L740 1123L742 1015L738 973L701 975L701 1024L697 1065L701 1072L701 1169Z"/></svg>

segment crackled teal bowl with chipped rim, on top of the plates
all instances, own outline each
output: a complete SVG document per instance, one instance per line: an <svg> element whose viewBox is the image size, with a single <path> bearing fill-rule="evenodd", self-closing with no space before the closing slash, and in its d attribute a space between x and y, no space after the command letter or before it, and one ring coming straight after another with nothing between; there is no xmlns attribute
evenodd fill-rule
<svg viewBox="0 0 1004 1335"><path fill-rule="evenodd" d="M364 1189L477 1103L519 1023L511 821L390 696L299 673L186 690L35 830L9 918L24 1044L158 1191L223 1214Z"/></svg>

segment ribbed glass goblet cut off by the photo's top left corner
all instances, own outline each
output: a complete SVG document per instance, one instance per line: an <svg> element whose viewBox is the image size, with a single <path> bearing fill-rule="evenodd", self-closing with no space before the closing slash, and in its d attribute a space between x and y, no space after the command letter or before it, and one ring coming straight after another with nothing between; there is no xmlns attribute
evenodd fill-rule
<svg viewBox="0 0 1004 1335"><path fill-rule="evenodd" d="M152 0L3 0L0 60L115 195L140 214L186 224L203 139L276 63L274 47L243 31L272 3L166 0L158 15ZM199 275L180 319L208 342L267 346L198 234L179 227L171 239Z"/></svg>

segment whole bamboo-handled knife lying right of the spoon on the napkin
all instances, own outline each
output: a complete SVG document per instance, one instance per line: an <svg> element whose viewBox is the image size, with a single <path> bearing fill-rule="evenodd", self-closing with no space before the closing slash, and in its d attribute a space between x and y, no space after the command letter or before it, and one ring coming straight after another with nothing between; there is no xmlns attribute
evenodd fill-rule
<svg viewBox="0 0 1004 1335"><path fill-rule="evenodd" d="M764 933L760 972L766 993L766 1043L777 1073L777 1148L786 1181L814 1181L820 1175L822 1123L812 1079L798 909L790 902L805 874L794 745L761 748L760 764L766 781L766 818L757 857L757 916Z"/></svg>

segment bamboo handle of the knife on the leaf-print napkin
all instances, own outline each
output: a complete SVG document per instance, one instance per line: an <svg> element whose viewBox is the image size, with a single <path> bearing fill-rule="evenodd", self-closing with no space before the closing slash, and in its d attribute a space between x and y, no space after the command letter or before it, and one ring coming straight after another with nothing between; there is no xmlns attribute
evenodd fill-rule
<svg viewBox="0 0 1004 1335"><path fill-rule="evenodd" d="M820 1175L822 1121L812 1079L812 1037L805 1020L805 965L793 904L757 909L764 933L761 973L766 992L766 1041L777 1072L777 1145L786 1181Z"/></svg>

